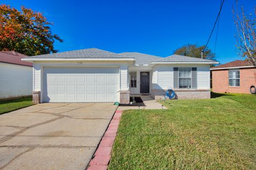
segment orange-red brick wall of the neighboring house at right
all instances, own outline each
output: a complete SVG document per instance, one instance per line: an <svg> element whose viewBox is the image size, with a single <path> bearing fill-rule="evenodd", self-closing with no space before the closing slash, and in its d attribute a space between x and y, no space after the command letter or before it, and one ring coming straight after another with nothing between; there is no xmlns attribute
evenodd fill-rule
<svg viewBox="0 0 256 170"><path fill-rule="evenodd" d="M240 87L229 87L228 70L212 71L212 91L220 93L250 94L250 86L256 86L256 69L240 69Z"/></svg>

